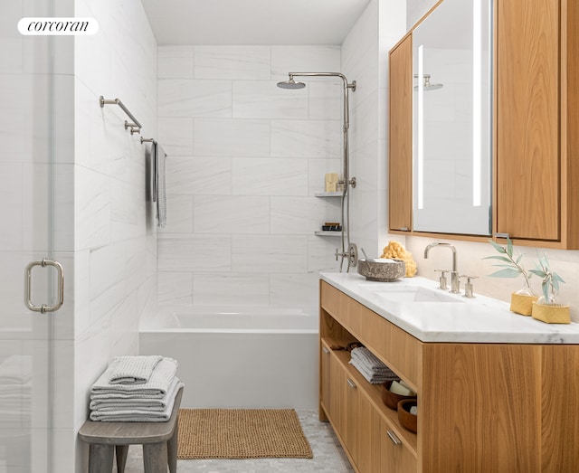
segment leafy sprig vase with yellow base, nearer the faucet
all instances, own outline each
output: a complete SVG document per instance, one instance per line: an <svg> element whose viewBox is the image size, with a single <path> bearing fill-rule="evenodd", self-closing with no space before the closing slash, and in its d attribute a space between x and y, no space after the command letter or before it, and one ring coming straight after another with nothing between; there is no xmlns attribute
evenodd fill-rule
<svg viewBox="0 0 579 473"><path fill-rule="evenodd" d="M487 256L484 260L498 260L500 262L493 264L493 266L501 268L501 270L497 270L489 276L493 278L518 278L521 276L523 278L523 287L517 290L517 292L511 293L510 310L522 316L530 316L533 311L533 302L536 301L537 296L531 288L529 281L532 274L525 270L521 264L523 255L519 254L517 257L514 256L513 242L510 241L509 238L507 238L506 246L501 246L492 240L489 240L489 243L500 254Z"/></svg>

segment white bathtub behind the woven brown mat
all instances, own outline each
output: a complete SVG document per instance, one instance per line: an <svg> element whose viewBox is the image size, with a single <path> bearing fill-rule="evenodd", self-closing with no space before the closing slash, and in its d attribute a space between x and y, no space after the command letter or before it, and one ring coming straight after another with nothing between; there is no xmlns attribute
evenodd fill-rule
<svg viewBox="0 0 579 473"><path fill-rule="evenodd" d="M299 309L168 308L139 353L178 361L184 408L318 409L318 317Z"/></svg>

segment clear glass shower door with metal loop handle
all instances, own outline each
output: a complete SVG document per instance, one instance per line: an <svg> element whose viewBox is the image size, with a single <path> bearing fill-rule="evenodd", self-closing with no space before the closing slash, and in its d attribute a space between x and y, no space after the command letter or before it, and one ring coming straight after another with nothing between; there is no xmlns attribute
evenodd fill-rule
<svg viewBox="0 0 579 473"><path fill-rule="evenodd" d="M0 473L51 472L54 317L24 303L25 268L54 260L53 40L22 36L26 16L50 16L52 0L0 2ZM31 268L33 305L53 306L58 271ZM46 308L46 307L44 307Z"/></svg>

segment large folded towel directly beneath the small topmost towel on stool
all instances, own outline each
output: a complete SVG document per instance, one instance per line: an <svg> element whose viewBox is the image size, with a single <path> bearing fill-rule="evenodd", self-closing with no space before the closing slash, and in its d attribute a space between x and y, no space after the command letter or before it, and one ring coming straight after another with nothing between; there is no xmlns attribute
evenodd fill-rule
<svg viewBox="0 0 579 473"><path fill-rule="evenodd" d="M155 366L147 383L119 384L110 383L111 374L119 364L118 359L113 359L109 367L90 388L90 399L99 394L132 393L138 397L162 399L173 382L177 370L177 362L172 358L162 358Z"/></svg>

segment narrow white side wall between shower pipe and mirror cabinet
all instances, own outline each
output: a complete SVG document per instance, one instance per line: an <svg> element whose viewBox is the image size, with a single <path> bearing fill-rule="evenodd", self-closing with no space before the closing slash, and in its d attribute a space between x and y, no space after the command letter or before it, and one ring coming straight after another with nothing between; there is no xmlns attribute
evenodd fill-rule
<svg viewBox="0 0 579 473"><path fill-rule="evenodd" d="M342 71L356 80L351 94L351 240L368 256L387 243L388 51L405 32L404 3L373 0L342 44Z"/></svg>

